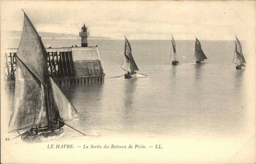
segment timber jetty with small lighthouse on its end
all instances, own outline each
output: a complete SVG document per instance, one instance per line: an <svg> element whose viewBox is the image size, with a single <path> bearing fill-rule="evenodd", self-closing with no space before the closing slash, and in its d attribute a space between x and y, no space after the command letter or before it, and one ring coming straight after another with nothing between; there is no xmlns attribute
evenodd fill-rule
<svg viewBox="0 0 256 164"><path fill-rule="evenodd" d="M85 25L79 35L82 37L81 47L45 48L49 74L59 86L104 81L98 47L87 47L89 33ZM5 88L13 89L17 48L6 49L5 52Z"/></svg>

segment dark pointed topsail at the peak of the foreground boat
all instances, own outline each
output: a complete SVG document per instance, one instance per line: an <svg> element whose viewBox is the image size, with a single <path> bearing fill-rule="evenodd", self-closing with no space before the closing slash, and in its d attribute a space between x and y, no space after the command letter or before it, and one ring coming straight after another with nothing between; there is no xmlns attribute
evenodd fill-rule
<svg viewBox="0 0 256 164"><path fill-rule="evenodd" d="M28 69L46 85L47 53L36 29L24 13L24 25L17 56Z"/></svg>

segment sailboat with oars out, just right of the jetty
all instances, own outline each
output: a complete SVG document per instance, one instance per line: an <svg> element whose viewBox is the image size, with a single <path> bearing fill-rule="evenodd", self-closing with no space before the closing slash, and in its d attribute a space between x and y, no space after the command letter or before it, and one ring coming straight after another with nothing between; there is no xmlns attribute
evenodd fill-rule
<svg viewBox="0 0 256 164"><path fill-rule="evenodd" d="M125 73L124 78L132 78L136 77L136 72L139 71L133 57L132 57L132 49L130 46L130 43L128 40L125 38L125 43L124 43L124 61L121 66L121 68L124 69L127 73Z"/></svg>

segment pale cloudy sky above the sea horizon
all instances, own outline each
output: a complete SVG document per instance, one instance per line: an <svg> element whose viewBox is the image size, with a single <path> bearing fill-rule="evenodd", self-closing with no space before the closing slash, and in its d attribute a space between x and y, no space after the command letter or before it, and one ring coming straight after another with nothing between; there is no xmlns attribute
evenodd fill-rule
<svg viewBox="0 0 256 164"><path fill-rule="evenodd" d="M129 39L255 38L255 1L1 1L1 30L22 30L26 12L37 31ZM76 25L77 24L77 25Z"/></svg>

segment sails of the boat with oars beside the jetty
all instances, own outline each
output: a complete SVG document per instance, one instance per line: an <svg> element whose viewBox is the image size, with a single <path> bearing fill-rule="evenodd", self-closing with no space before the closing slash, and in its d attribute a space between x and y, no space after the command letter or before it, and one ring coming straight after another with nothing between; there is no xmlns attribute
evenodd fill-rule
<svg viewBox="0 0 256 164"><path fill-rule="evenodd" d="M125 37L125 36L124 36ZM133 57L132 57L132 48L130 46L130 43L125 37L125 44L124 44L124 61L121 66L125 71L132 72L139 71Z"/></svg>

